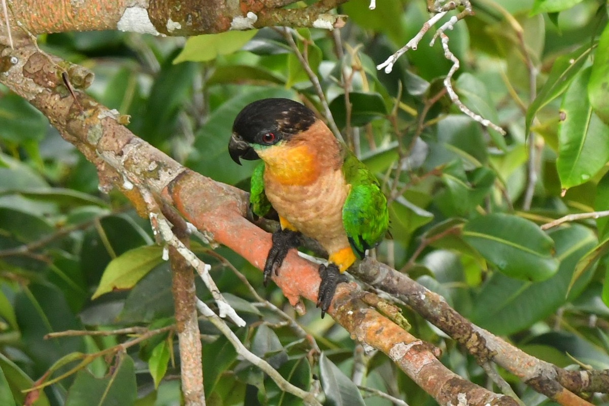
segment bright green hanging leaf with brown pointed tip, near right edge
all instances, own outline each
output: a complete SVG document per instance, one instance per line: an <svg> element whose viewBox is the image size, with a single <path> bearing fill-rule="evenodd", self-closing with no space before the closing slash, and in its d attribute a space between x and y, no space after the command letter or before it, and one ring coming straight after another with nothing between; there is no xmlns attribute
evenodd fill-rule
<svg viewBox="0 0 609 406"><path fill-rule="evenodd" d="M585 183L609 161L609 127L588 101L591 68L576 75L561 105L556 167L562 187Z"/></svg>

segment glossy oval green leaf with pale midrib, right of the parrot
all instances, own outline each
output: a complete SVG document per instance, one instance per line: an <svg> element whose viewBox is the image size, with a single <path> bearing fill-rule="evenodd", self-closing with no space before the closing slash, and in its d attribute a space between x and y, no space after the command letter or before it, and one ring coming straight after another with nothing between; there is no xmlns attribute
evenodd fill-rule
<svg viewBox="0 0 609 406"><path fill-rule="evenodd" d="M510 278L543 281L558 270L554 242L529 220L489 214L463 227L463 237Z"/></svg>

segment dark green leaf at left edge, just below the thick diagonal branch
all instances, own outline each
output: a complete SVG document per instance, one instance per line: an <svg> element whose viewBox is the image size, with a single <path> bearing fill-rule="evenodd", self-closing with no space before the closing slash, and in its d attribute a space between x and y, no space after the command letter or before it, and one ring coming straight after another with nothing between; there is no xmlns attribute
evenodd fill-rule
<svg viewBox="0 0 609 406"><path fill-rule="evenodd" d="M40 141L48 128L47 119L23 97L0 97L0 139L20 143Z"/></svg>

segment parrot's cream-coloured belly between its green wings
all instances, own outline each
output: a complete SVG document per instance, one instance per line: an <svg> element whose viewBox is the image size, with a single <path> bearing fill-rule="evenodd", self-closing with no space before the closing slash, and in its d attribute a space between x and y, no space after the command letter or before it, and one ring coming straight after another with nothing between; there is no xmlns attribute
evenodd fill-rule
<svg viewBox="0 0 609 406"><path fill-rule="evenodd" d="M349 247L342 222L348 185L340 170L306 186L265 181L265 192L281 217L305 236L319 241L328 253Z"/></svg>

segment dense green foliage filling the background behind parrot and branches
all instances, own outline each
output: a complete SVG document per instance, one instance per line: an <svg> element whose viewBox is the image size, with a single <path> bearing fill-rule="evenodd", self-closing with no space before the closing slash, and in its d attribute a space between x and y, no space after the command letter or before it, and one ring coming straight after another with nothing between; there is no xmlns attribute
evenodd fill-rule
<svg viewBox="0 0 609 406"><path fill-rule="evenodd" d="M424 2L386 0L371 11L368 2L351 0L339 10L350 16L340 43L324 30L298 29L295 38L334 121L389 197L393 240L377 257L529 354L558 366L607 369L607 217L540 228L565 214L609 209L607 4L473 5L476 14L448 32L461 62L453 83L465 105L504 127L505 137L450 102L442 79L451 63L439 44L428 46L431 33L390 74L376 70L426 21ZM129 114L136 135L245 189L255 163L236 166L227 153L238 111L264 97L320 109L294 50L273 29L188 40L62 33L44 35L40 44L93 70L90 94ZM93 165L1 86L0 149L0 404L23 404L22 391L46 372L51 384L37 406L179 404L171 275L147 221L118 192L100 191ZM527 186L531 170L537 179ZM366 367L365 387L412 405L435 404L385 355L362 355L347 332L308 303L296 320L323 351L317 358L311 342L261 306L225 260L295 317L274 285L262 287L258 270L225 248L195 248L248 321L234 329L238 337L290 382L322 388L329 404L389 405L355 389L357 360ZM203 287L197 293L211 299ZM413 334L443 348L445 365L487 385L453 341L403 311ZM122 328L138 339L127 332L43 338ZM238 359L211 324L202 321L201 329L209 404L299 404ZM551 404L516 377L505 379L527 405ZM593 401L607 404L606 397Z"/></svg>

